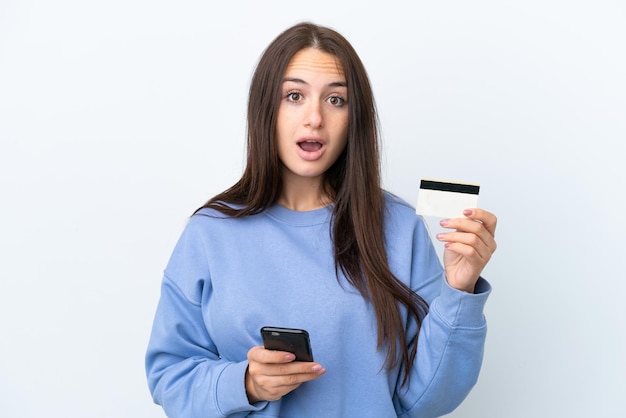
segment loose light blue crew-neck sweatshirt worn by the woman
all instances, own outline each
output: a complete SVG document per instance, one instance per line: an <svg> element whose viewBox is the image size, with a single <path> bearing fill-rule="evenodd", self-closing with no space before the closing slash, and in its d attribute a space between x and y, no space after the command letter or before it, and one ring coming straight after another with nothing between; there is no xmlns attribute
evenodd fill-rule
<svg viewBox="0 0 626 418"><path fill-rule="evenodd" d="M331 208L275 205L241 219L203 209L189 220L165 269L146 354L154 401L170 418L438 417L475 384L483 356L483 307L451 288L423 219L386 194L385 243L393 273L429 304L408 385L385 368L374 312L337 278ZM417 326L405 315L407 340ZM263 326L304 328L322 377L282 399L249 404L247 352Z"/></svg>

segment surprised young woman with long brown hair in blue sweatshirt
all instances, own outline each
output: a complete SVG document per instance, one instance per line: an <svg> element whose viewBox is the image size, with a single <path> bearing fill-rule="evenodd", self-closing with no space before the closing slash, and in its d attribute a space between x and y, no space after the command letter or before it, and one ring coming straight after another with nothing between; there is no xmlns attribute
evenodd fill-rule
<svg viewBox="0 0 626 418"><path fill-rule="evenodd" d="M177 417L436 417L480 370L496 218L447 219L442 268L423 220L381 189L366 71L309 23L266 49L242 178L189 220L165 269L146 356ZM266 350L304 328L314 362Z"/></svg>

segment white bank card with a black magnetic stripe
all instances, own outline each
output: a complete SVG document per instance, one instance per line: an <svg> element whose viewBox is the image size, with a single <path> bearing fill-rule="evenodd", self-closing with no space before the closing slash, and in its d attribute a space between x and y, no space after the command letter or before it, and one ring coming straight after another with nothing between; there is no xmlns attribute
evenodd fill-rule
<svg viewBox="0 0 626 418"><path fill-rule="evenodd" d="M464 209L478 207L479 191L478 184L422 179L415 212L440 218L463 217Z"/></svg>

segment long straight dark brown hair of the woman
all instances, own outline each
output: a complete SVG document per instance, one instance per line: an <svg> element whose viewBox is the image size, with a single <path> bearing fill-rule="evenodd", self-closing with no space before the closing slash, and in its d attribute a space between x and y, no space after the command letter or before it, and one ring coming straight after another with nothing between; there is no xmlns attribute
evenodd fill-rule
<svg viewBox="0 0 626 418"><path fill-rule="evenodd" d="M404 385L410 376L417 341L409 352L400 306L421 326L428 305L389 268L374 96L363 63L342 35L330 28L300 23L267 47L250 84L244 173L234 186L202 208L242 217L260 213L276 203L282 177L274 136L283 75L293 55L311 47L330 53L341 62L349 95L348 143L323 180L324 191L334 200L331 235L335 270L337 274L341 270L348 282L371 302L378 327L378 348L387 348L388 369L401 361Z"/></svg>

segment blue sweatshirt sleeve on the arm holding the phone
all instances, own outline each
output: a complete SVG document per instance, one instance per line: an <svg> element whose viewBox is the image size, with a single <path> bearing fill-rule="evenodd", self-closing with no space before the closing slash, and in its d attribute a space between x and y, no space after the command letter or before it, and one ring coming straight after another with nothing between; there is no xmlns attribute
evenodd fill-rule
<svg viewBox="0 0 626 418"><path fill-rule="evenodd" d="M210 292L202 257L202 243L193 228L181 236L161 287L150 342L146 374L154 401L170 418L245 417L265 403L250 405L245 392L247 361L220 357L207 332L201 298ZM193 281L169 276L195 277Z"/></svg>

